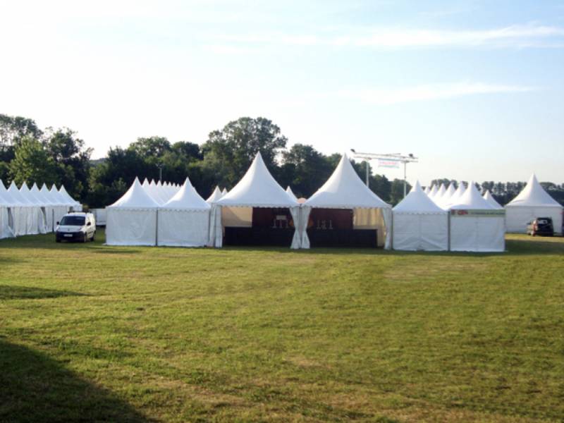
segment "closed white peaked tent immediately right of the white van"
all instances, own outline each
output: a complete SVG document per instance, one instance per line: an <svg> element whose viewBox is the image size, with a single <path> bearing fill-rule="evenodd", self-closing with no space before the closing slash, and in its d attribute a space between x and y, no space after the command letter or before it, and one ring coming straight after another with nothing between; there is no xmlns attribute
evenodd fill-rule
<svg viewBox="0 0 564 423"><path fill-rule="evenodd" d="M155 245L158 208L135 178L123 197L106 207L106 244Z"/></svg>

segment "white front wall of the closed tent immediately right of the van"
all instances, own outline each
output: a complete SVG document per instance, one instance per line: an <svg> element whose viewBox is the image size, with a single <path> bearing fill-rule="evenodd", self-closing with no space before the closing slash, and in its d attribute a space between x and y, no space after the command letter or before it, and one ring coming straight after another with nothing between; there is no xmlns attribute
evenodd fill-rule
<svg viewBox="0 0 564 423"><path fill-rule="evenodd" d="M155 245L157 209L106 209L107 245Z"/></svg>

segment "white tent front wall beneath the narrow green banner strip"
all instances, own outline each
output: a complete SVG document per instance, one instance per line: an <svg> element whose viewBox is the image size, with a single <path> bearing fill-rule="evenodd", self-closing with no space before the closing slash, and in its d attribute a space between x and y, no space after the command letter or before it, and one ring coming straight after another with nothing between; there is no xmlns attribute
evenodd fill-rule
<svg viewBox="0 0 564 423"><path fill-rule="evenodd" d="M450 216L450 251L505 251L503 216Z"/></svg>

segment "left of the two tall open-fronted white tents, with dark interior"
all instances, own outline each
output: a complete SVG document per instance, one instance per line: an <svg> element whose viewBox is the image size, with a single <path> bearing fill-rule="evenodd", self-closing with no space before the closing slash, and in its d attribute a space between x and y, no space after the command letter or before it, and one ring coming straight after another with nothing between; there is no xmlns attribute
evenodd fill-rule
<svg viewBox="0 0 564 423"><path fill-rule="evenodd" d="M212 205L210 243L231 245L288 245L299 248L300 236L292 227L299 205L272 177L260 153L245 176Z"/></svg>

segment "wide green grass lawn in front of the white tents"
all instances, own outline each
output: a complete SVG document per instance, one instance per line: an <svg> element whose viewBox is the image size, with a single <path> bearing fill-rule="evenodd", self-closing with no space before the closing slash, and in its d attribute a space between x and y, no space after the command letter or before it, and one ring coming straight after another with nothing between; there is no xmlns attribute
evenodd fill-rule
<svg viewBox="0 0 564 423"><path fill-rule="evenodd" d="M0 241L0 422L564 418L564 238L508 253Z"/></svg>

